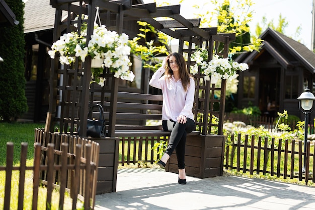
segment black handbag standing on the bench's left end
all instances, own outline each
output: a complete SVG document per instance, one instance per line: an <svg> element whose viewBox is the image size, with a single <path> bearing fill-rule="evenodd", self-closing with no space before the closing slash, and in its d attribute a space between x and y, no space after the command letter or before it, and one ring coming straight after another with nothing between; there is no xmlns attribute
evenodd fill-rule
<svg viewBox="0 0 315 210"><path fill-rule="evenodd" d="M92 119L92 112L94 108L98 108L98 111L100 112L99 119ZM104 110L102 105L100 104L93 105L89 110L87 122L87 136L95 138L104 138L106 136Z"/></svg>

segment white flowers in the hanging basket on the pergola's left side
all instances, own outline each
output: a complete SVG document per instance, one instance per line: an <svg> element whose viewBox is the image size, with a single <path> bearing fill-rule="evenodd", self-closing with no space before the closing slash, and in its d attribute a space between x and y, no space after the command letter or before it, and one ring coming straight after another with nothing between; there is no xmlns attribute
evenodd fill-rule
<svg viewBox="0 0 315 210"><path fill-rule="evenodd" d="M84 18L87 18L85 16ZM110 69L114 77L122 80L133 81L134 75L129 70L131 65L129 55L130 47L128 46L128 35L117 34L115 31L109 31L104 25L95 24L91 40L87 42L87 24L83 23L81 34L77 31L64 34L59 40L54 42L48 54L51 58L55 58L55 53L59 52L59 61L61 64L70 65L76 59L85 61L86 57L92 57L92 82L104 85L104 78L100 77L103 71L102 64ZM99 65L94 63L99 60Z"/></svg>

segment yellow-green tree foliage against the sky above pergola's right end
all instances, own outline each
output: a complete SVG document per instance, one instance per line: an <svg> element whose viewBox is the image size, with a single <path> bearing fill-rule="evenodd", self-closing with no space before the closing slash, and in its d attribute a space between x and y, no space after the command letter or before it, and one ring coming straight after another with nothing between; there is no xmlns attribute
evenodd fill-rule
<svg viewBox="0 0 315 210"><path fill-rule="evenodd" d="M208 10L209 4L214 7L213 11ZM200 11L196 18L201 19L202 28L217 27L218 33L235 33L236 39L229 48L230 54L238 54L242 51L259 50L261 45L260 38L250 36L249 22L252 21L253 6L251 0L236 0L230 3L229 0L205 1L201 7L194 5ZM206 8L207 11L203 11Z"/></svg>

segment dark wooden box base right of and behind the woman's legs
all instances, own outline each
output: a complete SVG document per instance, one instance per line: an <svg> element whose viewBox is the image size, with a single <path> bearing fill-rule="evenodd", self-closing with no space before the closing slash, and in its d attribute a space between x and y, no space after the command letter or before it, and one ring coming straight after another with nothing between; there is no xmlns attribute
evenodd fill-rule
<svg viewBox="0 0 315 210"><path fill-rule="evenodd" d="M185 152L186 175L202 179L222 176L224 146L224 135L188 135ZM178 173L175 151L165 170Z"/></svg>

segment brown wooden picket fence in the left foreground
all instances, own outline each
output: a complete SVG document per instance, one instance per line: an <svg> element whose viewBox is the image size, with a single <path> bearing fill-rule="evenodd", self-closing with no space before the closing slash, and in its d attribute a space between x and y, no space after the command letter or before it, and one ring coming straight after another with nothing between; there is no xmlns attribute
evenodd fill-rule
<svg viewBox="0 0 315 210"><path fill-rule="evenodd" d="M81 200L84 209L94 209L99 144L66 134L46 133L35 129L34 165L26 166L27 143L21 145L20 166L13 165L13 143L7 143L7 163L0 166L6 171L4 209L10 209L12 172L19 171L18 210L23 209L25 173L33 171L32 209L37 209L40 184L47 187L46 209L50 209L52 191L59 190L59 208L63 209L65 192L70 193L72 208Z"/></svg>

